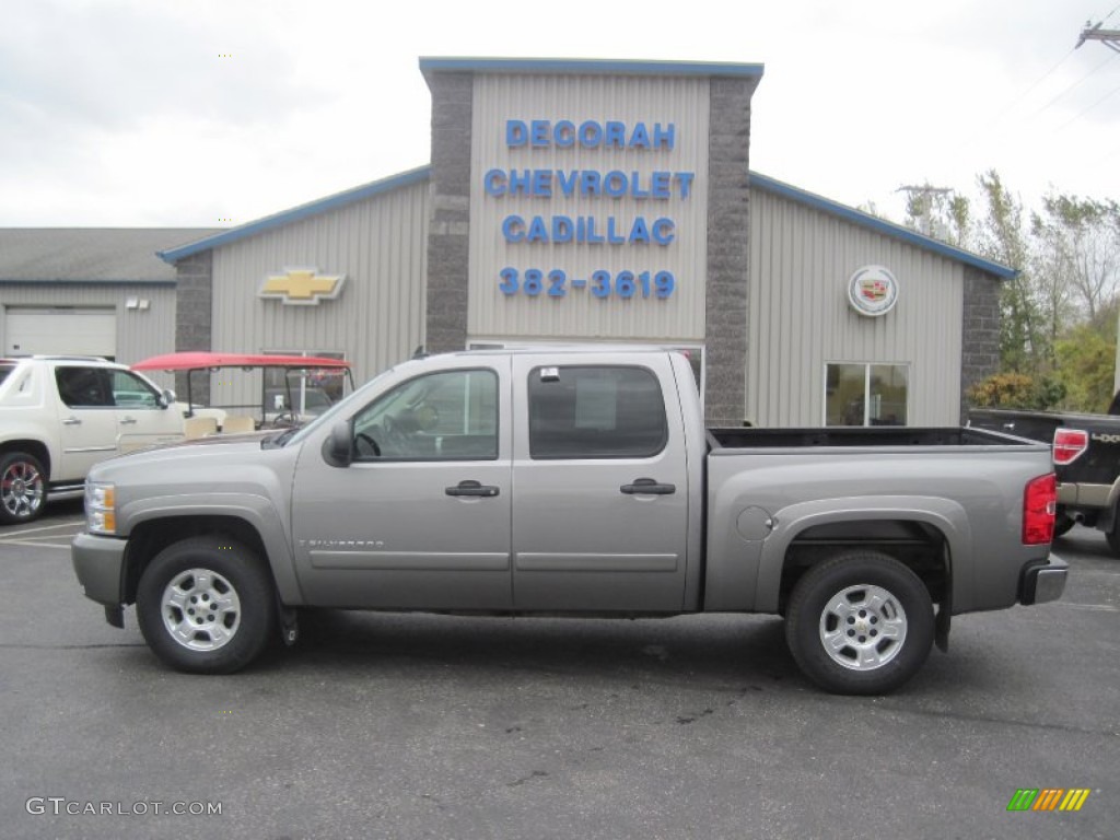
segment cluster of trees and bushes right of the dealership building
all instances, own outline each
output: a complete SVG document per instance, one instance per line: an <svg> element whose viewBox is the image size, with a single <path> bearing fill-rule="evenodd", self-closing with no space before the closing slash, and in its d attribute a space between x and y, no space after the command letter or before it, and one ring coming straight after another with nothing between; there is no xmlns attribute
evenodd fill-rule
<svg viewBox="0 0 1120 840"><path fill-rule="evenodd" d="M1105 410L1120 309L1120 204L1052 189L1028 213L995 169L977 185L977 215L954 189L903 187L906 225L1018 271L1001 287L1000 371L970 400Z"/></svg>

